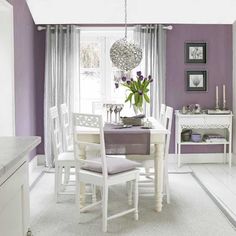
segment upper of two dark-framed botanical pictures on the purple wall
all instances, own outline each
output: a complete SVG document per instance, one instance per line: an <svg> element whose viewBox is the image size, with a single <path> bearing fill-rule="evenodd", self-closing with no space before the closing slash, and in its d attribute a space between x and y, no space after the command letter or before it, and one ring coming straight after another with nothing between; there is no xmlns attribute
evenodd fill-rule
<svg viewBox="0 0 236 236"><path fill-rule="evenodd" d="M186 63L206 63L206 43L185 43Z"/></svg>

